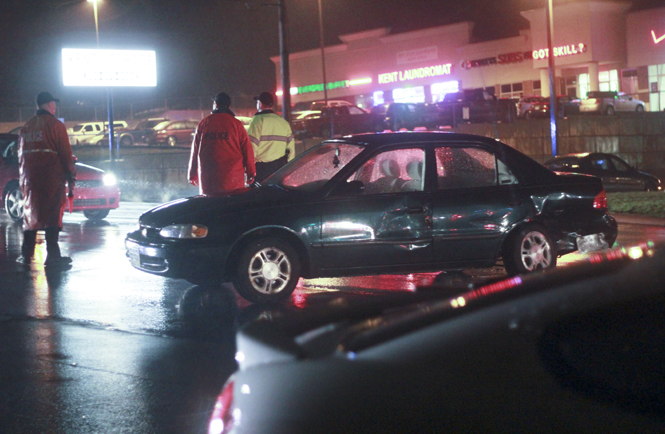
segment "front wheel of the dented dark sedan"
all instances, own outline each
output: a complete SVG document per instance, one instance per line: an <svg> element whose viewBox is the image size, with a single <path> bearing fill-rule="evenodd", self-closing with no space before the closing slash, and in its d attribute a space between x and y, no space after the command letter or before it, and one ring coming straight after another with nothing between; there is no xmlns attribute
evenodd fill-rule
<svg viewBox="0 0 665 434"><path fill-rule="evenodd" d="M233 285L249 301L267 303L287 298L300 278L300 259L278 238L264 238L245 247Z"/></svg>

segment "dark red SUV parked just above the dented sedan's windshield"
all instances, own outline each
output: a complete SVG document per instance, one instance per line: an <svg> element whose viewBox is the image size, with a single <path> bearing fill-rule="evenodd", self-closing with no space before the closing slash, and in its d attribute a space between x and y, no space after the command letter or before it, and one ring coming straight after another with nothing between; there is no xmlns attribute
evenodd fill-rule
<svg viewBox="0 0 665 434"><path fill-rule="evenodd" d="M305 117L291 122L296 138L347 135L376 131L380 117L355 105L323 107L320 116Z"/></svg>

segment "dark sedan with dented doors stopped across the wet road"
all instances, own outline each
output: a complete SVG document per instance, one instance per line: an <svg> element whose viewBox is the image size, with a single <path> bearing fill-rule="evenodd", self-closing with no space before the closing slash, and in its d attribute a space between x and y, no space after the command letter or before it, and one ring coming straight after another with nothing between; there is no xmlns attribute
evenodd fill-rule
<svg viewBox="0 0 665 434"><path fill-rule="evenodd" d="M556 175L491 138L437 132L324 141L263 185L145 212L127 234L139 270L232 281L254 302L300 277L494 266L549 269L557 256L611 246L600 179Z"/></svg>

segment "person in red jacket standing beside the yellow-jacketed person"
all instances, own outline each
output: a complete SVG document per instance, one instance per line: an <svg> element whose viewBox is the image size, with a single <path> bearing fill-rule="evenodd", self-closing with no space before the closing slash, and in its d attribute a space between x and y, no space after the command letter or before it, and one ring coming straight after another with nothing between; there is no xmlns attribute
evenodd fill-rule
<svg viewBox="0 0 665 434"><path fill-rule="evenodd" d="M242 122L229 109L231 97L213 98L212 114L196 127L188 179L201 194L221 194L254 182L254 150Z"/></svg>

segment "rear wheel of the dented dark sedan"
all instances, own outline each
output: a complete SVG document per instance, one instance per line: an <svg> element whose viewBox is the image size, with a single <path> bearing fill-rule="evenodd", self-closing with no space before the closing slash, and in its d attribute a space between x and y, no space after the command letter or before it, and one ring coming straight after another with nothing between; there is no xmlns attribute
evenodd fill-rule
<svg viewBox="0 0 665 434"><path fill-rule="evenodd" d="M547 231L538 225L526 225L508 238L503 249L506 272L532 273L556 266L556 252Z"/></svg>

